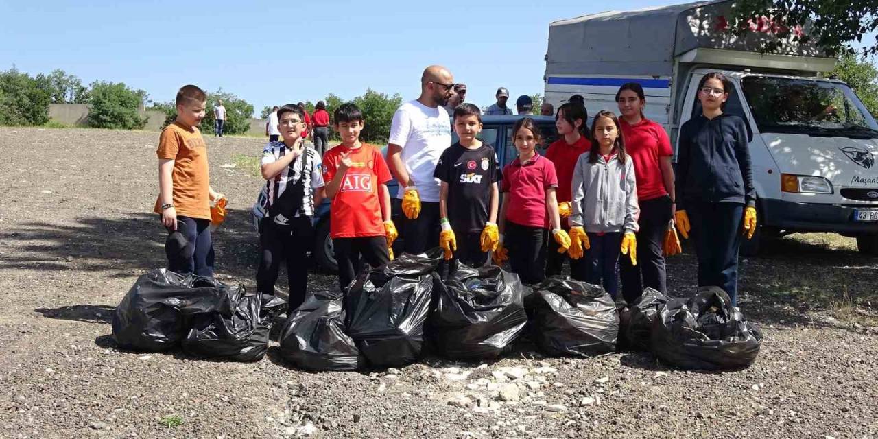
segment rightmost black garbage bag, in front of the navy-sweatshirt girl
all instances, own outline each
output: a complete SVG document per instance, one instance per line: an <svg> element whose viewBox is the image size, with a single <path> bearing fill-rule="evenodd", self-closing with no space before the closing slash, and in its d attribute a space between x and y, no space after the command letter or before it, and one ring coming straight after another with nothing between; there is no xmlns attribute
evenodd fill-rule
<svg viewBox="0 0 878 439"><path fill-rule="evenodd" d="M702 287L691 298L671 299L652 322L651 350L663 363L716 371L756 361L762 331L744 320L722 288Z"/></svg>

